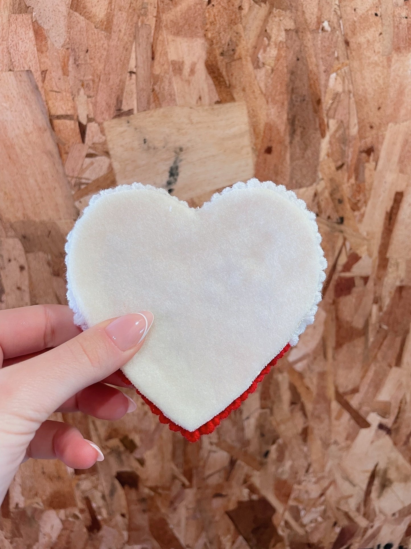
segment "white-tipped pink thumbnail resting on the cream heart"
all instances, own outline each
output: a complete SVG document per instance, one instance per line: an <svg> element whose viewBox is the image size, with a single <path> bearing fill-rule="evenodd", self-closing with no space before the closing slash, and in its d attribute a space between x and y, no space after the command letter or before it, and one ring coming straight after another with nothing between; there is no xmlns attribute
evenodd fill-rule
<svg viewBox="0 0 411 549"><path fill-rule="evenodd" d="M127 351L141 343L146 337L153 323L153 318L150 311L131 313L116 318L105 330L121 351Z"/></svg>

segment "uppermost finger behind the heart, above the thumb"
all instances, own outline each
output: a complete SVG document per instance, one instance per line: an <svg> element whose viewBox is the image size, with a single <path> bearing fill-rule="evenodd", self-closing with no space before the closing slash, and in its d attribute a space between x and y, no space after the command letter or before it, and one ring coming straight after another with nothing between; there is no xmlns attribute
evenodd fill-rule
<svg viewBox="0 0 411 549"><path fill-rule="evenodd" d="M66 305L31 305L0 311L0 359L56 347L81 333ZM0 360L1 367L1 360Z"/></svg>

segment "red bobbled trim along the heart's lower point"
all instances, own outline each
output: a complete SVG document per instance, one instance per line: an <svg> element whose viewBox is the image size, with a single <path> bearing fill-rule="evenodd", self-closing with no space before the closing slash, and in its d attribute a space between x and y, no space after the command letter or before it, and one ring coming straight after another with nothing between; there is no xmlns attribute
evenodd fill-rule
<svg viewBox="0 0 411 549"><path fill-rule="evenodd" d="M251 393L254 393L260 381L262 381L262 379L264 379L267 373L270 372L271 367L276 365L279 358L282 358L286 354L289 348L290 348L290 344L287 343L284 349L280 351L278 355L274 357L272 361L269 362L267 366L261 370L258 376L254 379L253 383L249 386L249 388L246 391L244 391L242 395L240 395L236 400L233 400L231 404L225 408L225 410L223 410L222 412L214 416L213 419L210 419L210 421L208 421L207 423L204 423L203 425L201 425L201 427L199 427L195 431L187 431L187 429L183 429L182 427L180 427L180 425L177 425L176 423L172 422L171 419L164 416L163 412L159 410L159 408L157 408L157 406L153 404L151 400L147 399L144 395L142 395L138 389L136 389L136 393L139 394L142 400L144 400L144 402L150 406L150 410L154 414L156 414L156 416L158 416L160 423L164 423L164 424L168 423L168 428L170 430L179 431L182 434L182 436L184 436L184 438L186 438L190 442L197 442L197 440L200 438L201 435L209 435L210 433L212 433L214 429L220 424L221 419L225 419L230 415L230 413L233 410L237 410L237 408L241 406L241 403L247 399L248 395L250 395ZM127 382L129 382L128 379L127 379Z"/></svg>

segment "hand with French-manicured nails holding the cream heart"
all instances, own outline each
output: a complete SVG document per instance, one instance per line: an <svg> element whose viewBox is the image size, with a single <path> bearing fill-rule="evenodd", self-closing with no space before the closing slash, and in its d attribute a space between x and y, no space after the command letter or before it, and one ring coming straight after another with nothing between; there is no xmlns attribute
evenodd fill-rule
<svg viewBox="0 0 411 549"><path fill-rule="evenodd" d="M131 385L117 370L141 348L152 321L143 311L82 333L63 305L0 311L0 503L30 457L58 458L76 469L104 459L78 429L47 418L79 411L118 419L135 410L134 401L105 383Z"/></svg>

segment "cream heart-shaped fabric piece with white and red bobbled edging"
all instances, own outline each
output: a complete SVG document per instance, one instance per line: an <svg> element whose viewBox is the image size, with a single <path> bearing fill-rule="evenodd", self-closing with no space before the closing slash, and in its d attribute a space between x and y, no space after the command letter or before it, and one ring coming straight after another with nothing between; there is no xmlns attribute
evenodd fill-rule
<svg viewBox="0 0 411 549"><path fill-rule="evenodd" d="M87 328L151 311L123 367L160 421L210 433L295 345L321 300L316 216L252 179L192 209L141 183L101 191L67 237L67 298Z"/></svg>

